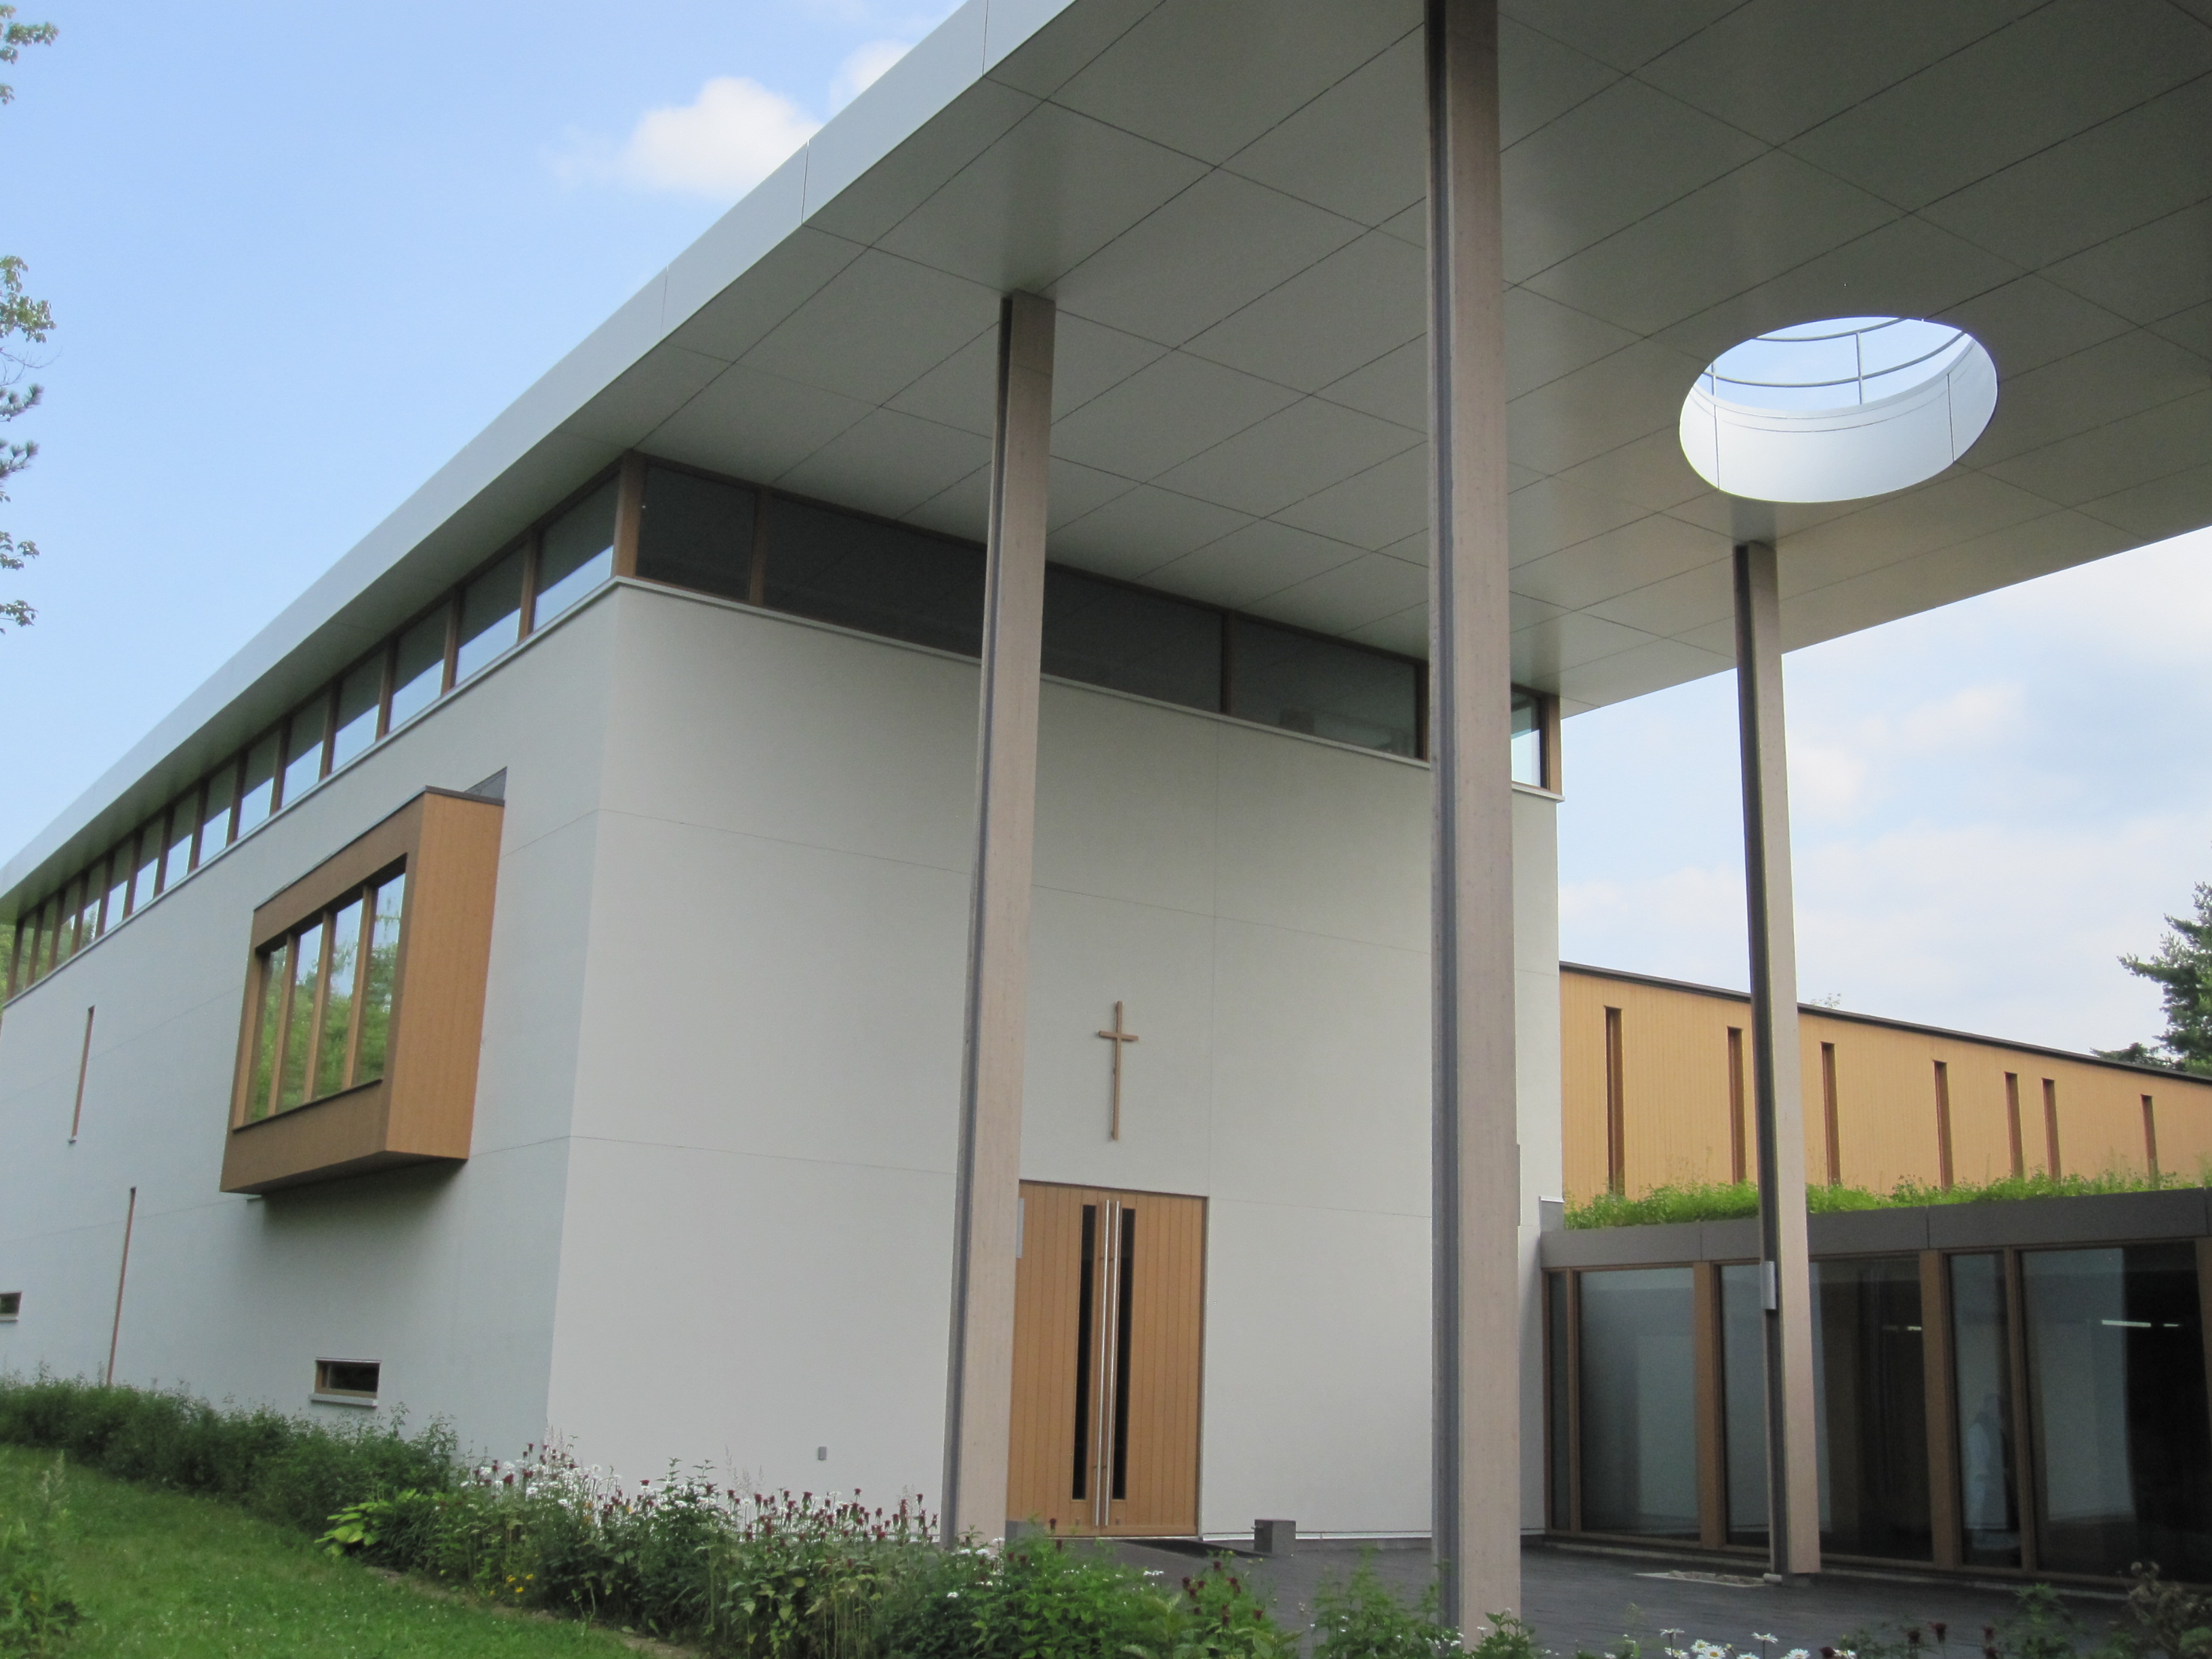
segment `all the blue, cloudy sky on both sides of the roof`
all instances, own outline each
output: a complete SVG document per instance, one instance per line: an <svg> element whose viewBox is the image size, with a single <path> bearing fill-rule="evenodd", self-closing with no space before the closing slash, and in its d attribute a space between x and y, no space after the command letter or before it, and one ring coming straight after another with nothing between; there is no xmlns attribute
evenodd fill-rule
<svg viewBox="0 0 2212 1659"><path fill-rule="evenodd" d="M0 509L0 849L942 13L896 0L24 7L0 252L60 319ZM1790 659L1807 995L2055 1044L2212 876L2212 542ZM1728 681L1566 728L1575 960L1743 982Z"/></svg>

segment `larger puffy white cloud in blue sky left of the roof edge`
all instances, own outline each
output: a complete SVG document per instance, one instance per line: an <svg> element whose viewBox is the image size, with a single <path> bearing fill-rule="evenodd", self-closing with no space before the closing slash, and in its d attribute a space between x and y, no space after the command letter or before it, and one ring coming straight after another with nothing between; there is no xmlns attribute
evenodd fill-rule
<svg viewBox="0 0 2212 1659"><path fill-rule="evenodd" d="M553 166L566 181L615 179L734 201L816 131L821 122L783 93L743 75L714 75L690 104L661 104L639 115L619 148L573 137Z"/></svg>

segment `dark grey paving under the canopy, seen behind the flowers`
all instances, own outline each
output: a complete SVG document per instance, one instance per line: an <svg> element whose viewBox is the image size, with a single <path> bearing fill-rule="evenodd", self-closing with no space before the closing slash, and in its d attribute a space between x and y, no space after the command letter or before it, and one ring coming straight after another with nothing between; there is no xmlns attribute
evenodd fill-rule
<svg viewBox="0 0 2212 1659"><path fill-rule="evenodd" d="M1400 1595L1420 1595L1429 1582L1429 1540L1340 1544L1301 1540L1296 1555L1239 1555L1237 1571L1272 1599L1285 1624L1305 1626L1314 1588L1343 1579L1374 1551L1376 1573ZM1194 1573L1201 1559L1190 1546L1121 1544L1137 1566L1157 1568L1168 1582ZM1922 1626L1929 1659L1940 1659L1933 1621L1942 1619L1951 1659L1980 1659L1982 1626L2013 1615L2013 1593L1995 1584L1962 1579L1916 1579L1909 1575L1823 1573L1805 1586L1763 1584L1752 1562L1712 1557L1666 1557L1641 1551L1595 1551L1582 1546L1531 1544L1522 1553L1522 1595L1537 1639L1557 1655L1619 1652L1621 1639L1641 1644L1659 1659L1661 1630L1683 1630L1688 1641L1728 1641L1759 1652L1759 1632L1772 1635L1772 1655L1790 1648L1845 1646L1843 1637L1863 1626ZM2117 1599L2068 1595L2081 1619L2086 1644L2099 1641L2121 1617Z"/></svg>

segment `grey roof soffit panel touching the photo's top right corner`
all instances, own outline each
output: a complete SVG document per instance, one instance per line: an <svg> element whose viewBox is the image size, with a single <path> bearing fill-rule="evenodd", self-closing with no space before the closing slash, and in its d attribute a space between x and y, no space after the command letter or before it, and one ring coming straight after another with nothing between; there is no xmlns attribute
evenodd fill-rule
<svg viewBox="0 0 2212 1659"><path fill-rule="evenodd" d="M2163 0L2053 0L1790 142L1794 155L1900 208L2212 69L2212 31ZM2006 88L1989 97L1989 88Z"/></svg>

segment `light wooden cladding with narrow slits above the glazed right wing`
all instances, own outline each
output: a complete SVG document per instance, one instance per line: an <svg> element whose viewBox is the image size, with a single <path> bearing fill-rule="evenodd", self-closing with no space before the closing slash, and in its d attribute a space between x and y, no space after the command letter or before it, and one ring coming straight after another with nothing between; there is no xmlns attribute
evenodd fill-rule
<svg viewBox="0 0 2212 1659"><path fill-rule="evenodd" d="M1728 1181L1732 1126L1728 1031L1747 1031L1750 1004L1728 991L1666 984L1568 967L1559 973L1566 1192L1606 1190L1606 1011L1619 1009L1621 1106L1617 1135L1624 1190ZM1745 1068L1750 1037L1745 1035ZM2148 1175L2157 1141L2161 1175L2199 1179L2212 1159L2212 1082L2117 1066L2086 1055L1933 1031L1865 1015L1801 1009L1798 1062L1805 1110L1805 1179L1827 1183L1827 1073L1834 1046L1836 1152L1845 1186L1889 1192L1900 1181L1944 1186L1938 1093L1949 1106L1951 1179L1978 1186L2013 1170L2013 1093L2020 1166ZM2006 1088L2013 1077L2013 1091ZM2150 1110L2143 1097L2152 1099ZM2148 1124L2146 1124L2148 1119ZM1747 1148L1752 1150L1752 1148ZM1747 1159L1756 1168L1756 1157Z"/></svg>

